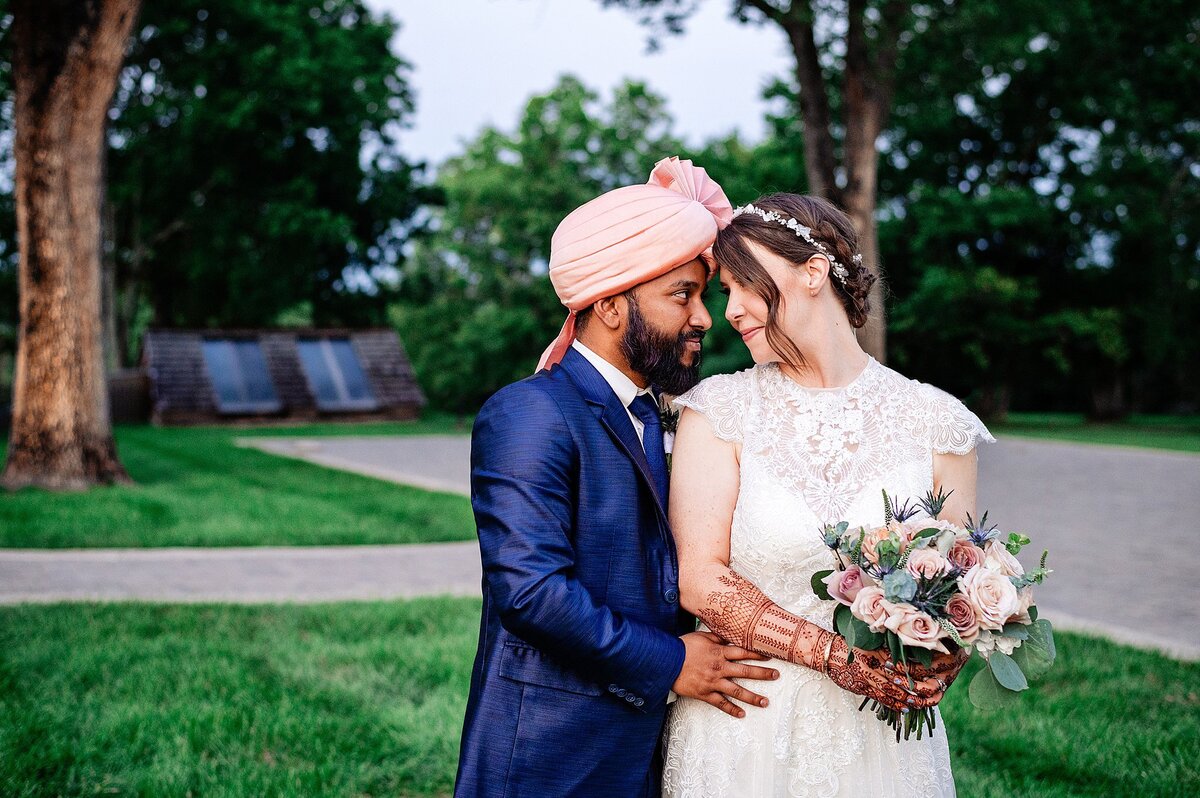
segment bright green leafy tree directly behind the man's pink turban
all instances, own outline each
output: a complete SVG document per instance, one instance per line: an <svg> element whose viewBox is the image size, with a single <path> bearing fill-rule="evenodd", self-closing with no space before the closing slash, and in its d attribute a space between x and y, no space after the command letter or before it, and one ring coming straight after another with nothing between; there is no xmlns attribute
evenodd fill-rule
<svg viewBox="0 0 1200 798"><path fill-rule="evenodd" d="M679 152L664 101L625 83L610 101L564 77L511 133L484 130L438 173L445 206L404 265L392 319L431 401L470 412L527 377L566 317L546 278L575 208L644 182Z"/></svg>

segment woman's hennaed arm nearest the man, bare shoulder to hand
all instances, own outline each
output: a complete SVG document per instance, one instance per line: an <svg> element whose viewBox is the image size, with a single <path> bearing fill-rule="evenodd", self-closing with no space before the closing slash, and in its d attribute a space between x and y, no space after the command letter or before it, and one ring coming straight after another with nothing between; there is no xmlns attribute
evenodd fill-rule
<svg viewBox="0 0 1200 798"><path fill-rule="evenodd" d="M937 703L935 678L911 696L880 667L882 652L854 652L840 635L794 616L730 568L730 528L740 484L736 444L713 434L701 414L679 419L671 469L671 528L679 552L684 608L742 648L828 673L839 686L892 707ZM908 701L912 698L912 701Z"/></svg>

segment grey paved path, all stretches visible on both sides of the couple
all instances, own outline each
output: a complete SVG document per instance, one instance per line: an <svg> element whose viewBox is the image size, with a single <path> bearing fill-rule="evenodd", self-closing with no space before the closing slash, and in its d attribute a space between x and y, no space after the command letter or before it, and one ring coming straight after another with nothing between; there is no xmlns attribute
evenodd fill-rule
<svg viewBox="0 0 1200 798"><path fill-rule="evenodd" d="M468 492L461 436L244 439L274 454ZM1061 628L1200 659L1200 457L1003 439L980 455L979 506L1051 552L1039 605ZM478 595L470 544L334 548L0 551L0 602L328 601Z"/></svg>

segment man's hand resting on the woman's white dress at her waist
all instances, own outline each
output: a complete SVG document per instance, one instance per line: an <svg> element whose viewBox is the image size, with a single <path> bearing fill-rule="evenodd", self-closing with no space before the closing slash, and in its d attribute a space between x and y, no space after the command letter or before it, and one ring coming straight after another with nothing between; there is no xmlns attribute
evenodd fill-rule
<svg viewBox="0 0 1200 798"><path fill-rule="evenodd" d="M732 679L764 679L768 682L778 679L779 671L774 668L743 665L736 661L758 660L762 662L770 658L738 646L727 646L719 636L706 631L691 632L679 640L683 641L686 653L679 678L671 688L678 695L706 701L734 718L745 718L746 713L731 698L737 698L742 703L754 707L767 706L764 697L746 690Z"/></svg>

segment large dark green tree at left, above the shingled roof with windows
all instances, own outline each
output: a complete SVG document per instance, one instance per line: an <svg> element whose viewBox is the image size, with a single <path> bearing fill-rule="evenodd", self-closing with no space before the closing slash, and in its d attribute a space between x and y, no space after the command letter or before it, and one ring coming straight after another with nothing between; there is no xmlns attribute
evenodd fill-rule
<svg viewBox="0 0 1200 798"><path fill-rule="evenodd" d="M160 325L384 320L379 277L430 198L397 150L395 31L361 0L148 5L110 112L119 337L139 306Z"/></svg>

